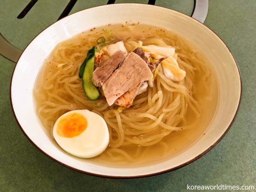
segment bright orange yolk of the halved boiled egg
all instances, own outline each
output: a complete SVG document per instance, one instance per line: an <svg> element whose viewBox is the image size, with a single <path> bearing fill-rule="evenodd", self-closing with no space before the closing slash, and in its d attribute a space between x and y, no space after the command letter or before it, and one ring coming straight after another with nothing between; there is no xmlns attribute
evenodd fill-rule
<svg viewBox="0 0 256 192"><path fill-rule="evenodd" d="M57 132L62 137L75 137L85 131L87 120L78 113L72 113L63 117L58 125Z"/></svg>

